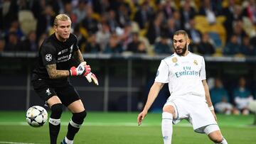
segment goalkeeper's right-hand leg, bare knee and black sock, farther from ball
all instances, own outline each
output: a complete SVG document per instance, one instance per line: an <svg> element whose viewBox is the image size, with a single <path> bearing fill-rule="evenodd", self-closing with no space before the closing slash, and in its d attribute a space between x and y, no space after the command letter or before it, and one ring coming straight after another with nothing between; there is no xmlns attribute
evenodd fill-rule
<svg viewBox="0 0 256 144"><path fill-rule="evenodd" d="M68 133L65 136L65 143L72 144L75 134L78 133L80 126L82 126L86 111L80 99L68 105L68 109L73 113L73 116L68 123Z"/></svg>

